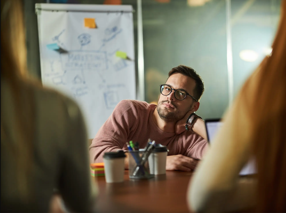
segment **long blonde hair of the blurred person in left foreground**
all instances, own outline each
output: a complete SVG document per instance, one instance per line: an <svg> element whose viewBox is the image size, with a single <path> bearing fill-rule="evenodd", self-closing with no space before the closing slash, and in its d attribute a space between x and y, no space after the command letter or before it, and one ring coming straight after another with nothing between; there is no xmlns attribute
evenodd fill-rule
<svg viewBox="0 0 286 213"><path fill-rule="evenodd" d="M25 29L21 0L1 0L1 81L7 82L12 92L15 109L15 128L10 131L2 119L1 96L1 152L13 154L21 198L29 193L28 176L31 170L32 142L34 136L33 90L27 80ZM11 118L12 119L12 118ZM12 135L13 134L13 135ZM15 139L13 139L15 138ZM15 141L16 140L16 141Z"/></svg>

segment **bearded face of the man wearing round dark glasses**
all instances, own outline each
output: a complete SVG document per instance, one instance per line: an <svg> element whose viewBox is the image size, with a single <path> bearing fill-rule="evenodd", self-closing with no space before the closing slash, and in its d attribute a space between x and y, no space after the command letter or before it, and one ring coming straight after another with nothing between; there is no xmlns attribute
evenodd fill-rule
<svg viewBox="0 0 286 213"><path fill-rule="evenodd" d="M196 82L194 79L180 73L172 74L165 83L173 89L183 89L191 96L194 96L194 88ZM198 105L190 96L186 96L184 100L175 98L174 91L169 95L160 95L157 104L157 111L161 119L168 122L177 122L182 119L188 111L196 111ZM195 106L194 106L195 105Z"/></svg>

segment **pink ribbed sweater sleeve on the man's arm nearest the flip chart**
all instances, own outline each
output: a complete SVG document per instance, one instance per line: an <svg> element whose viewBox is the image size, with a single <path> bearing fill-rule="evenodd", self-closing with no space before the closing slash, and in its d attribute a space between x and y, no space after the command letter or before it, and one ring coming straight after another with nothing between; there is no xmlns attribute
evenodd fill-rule
<svg viewBox="0 0 286 213"><path fill-rule="evenodd" d="M130 132L138 125L138 111L132 100L120 101L102 125L89 147L90 162L103 162L105 152L122 150Z"/></svg>

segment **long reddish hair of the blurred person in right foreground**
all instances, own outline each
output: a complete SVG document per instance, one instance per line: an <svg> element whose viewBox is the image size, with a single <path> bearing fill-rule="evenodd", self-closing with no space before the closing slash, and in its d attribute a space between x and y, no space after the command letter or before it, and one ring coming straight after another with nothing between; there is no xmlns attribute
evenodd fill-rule
<svg viewBox="0 0 286 213"><path fill-rule="evenodd" d="M246 105L251 119L258 212L286 212L285 13L286 1L282 1L272 54L262 61L238 95L238 102Z"/></svg>

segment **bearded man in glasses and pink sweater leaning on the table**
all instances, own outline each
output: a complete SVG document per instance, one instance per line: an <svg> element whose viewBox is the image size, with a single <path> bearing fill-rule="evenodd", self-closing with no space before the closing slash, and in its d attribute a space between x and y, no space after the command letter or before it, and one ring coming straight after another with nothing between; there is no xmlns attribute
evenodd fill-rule
<svg viewBox="0 0 286 213"><path fill-rule="evenodd" d="M167 82L160 85L157 106L120 101L89 147L91 163L102 162L105 152L128 150L126 142L130 140L144 148L150 138L169 149L166 170L193 170L208 148L204 121L194 113L203 91L200 75L180 65L171 69Z"/></svg>

